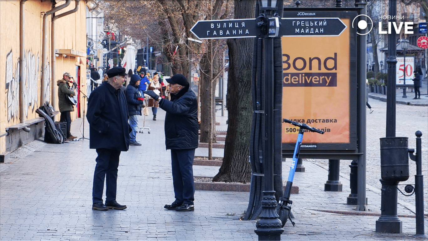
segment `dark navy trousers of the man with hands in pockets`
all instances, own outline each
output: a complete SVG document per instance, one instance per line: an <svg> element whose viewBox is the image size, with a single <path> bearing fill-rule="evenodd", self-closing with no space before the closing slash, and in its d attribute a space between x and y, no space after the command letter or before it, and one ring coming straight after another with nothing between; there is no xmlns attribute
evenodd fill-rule
<svg viewBox="0 0 428 241"><path fill-rule="evenodd" d="M117 168L119 167L120 151L106 148L96 149L98 157L92 187L92 202L103 202L104 178L106 180L106 202L116 201Z"/></svg>

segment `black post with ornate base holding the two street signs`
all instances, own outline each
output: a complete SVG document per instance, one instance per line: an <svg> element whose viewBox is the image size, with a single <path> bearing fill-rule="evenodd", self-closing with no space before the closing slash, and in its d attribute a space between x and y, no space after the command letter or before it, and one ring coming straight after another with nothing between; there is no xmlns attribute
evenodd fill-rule
<svg viewBox="0 0 428 241"><path fill-rule="evenodd" d="M277 7L276 0L259 0L259 7L265 13L258 18L258 26L264 35L264 69L265 69L265 191L262 198L262 212L260 219L256 223L254 232L259 236L259 240L281 240L284 229L282 222L276 213L275 191L273 189L273 37L269 36L269 18Z"/></svg>

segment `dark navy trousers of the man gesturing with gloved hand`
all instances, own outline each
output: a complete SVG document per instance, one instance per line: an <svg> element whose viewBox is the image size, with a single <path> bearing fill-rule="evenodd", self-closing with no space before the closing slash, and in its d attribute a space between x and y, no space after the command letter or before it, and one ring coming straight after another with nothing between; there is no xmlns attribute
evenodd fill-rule
<svg viewBox="0 0 428 241"><path fill-rule="evenodd" d="M172 181L177 203L193 205L195 200L194 157L195 149L171 150Z"/></svg>

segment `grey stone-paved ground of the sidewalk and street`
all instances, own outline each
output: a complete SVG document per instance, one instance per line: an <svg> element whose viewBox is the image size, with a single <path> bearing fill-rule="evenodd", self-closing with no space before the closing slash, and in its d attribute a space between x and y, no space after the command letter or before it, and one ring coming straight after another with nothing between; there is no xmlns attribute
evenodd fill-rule
<svg viewBox="0 0 428 241"><path fill-rule="evenodd" d="M294 176L294 185L300 188L299 194L291 196L296 226L286 223L282 240L422 240L413 236L414 196L398 196L403 233L375 232L376 215L380 213L379 138L385 132L386 102L370 99L369 103L375 110L367 114L369 211L357 212L355 206L346 205L350 161L341 161L343 192L325 192L328 160L306 160L306 172ZM426 106L397 105L397 136L409 137L412 148L415 131L424 134L425 212L427 112ZM226 130L226 119L217 116L217 130ZM91 209L96 152L89 149L88 140L54 145L39 139L13 152L7 163L0 164L0 240L257 240L256 223L239 220L247 209L248 193L196 191L194 212L163 209L174 200L163 120L161 110L158 121L147 117L145 126L151 128L151 133L137 134L137 141L143 145L131 146L121 154L117 201L128 206L125 210ZM74 121L71 128L74 136L81 137L82 119ZM87 122L84 134L89 138ZM207 148L196 149L197 156L207 154ZM223 149L214 149L213 155L222 157ZM283 176L287 178L289 160L283 166ZM194 174L212 176L218 168L194 166ZM412 183L412 161L410 171L405 183ZM425 219L425 233L427 227Z"/></svg>

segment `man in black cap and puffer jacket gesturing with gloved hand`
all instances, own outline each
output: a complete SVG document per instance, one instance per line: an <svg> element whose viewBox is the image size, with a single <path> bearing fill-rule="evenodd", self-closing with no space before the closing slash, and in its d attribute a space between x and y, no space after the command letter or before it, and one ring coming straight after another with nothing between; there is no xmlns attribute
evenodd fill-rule
<svg viewBox="0 0 428 241"><path fill-rule="evenodd" d="M152 90L146 90L159 107L166 111L165 145L171 150L172 181L175 201L164 208L176 211L193 211L195 184L193 158L198 147L198 108L195 93L189 88L187 78L177 74L167 78L171 101L163 99Z"/></svg>

